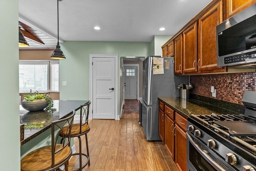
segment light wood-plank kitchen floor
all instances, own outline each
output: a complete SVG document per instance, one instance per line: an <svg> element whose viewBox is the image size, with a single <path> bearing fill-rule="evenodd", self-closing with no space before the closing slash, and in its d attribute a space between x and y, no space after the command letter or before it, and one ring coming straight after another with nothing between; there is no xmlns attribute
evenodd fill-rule
<svg viewBox="0 0 256 171"><path fill-rule="evenodd" d="M83 171L178 171L161 141L145 139L138 113L122 115L120 120L92 119L89 126L90 166ZM82 150L87 153L85 136L82 143ZM78 138L74 144L79 151ZM78 156L72 157L68 165L69 171L76 168Z"/></svg>

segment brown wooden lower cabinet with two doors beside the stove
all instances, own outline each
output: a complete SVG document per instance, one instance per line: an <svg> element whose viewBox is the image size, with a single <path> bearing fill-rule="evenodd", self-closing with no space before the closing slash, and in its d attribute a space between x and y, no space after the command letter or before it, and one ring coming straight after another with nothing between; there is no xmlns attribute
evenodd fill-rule
<svg viewBox="0 0 256 171"><path fill-rule="evenodd" d="M159 115L162 111L159 109ZM160 118L160 116L159 116ZM164 145L180 171L186 171L187 119L164 105Z"/></svg>

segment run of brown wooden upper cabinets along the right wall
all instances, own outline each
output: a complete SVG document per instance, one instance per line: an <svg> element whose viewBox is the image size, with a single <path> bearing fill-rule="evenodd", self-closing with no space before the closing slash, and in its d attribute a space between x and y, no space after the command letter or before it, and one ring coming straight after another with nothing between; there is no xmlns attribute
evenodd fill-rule
<svg viewBox="0 0 256 171"><path fill-rule="evenodd" d="M228 72L226 67L217 66L216 26L255 3L256 0L212 0L162 46L163 56L174 56L174 73Z"/></svg>

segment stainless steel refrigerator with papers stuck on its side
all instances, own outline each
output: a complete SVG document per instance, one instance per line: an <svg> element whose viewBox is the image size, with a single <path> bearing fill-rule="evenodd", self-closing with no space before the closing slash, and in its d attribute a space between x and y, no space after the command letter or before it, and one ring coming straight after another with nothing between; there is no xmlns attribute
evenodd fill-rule
<svg viewBox="0 0 256 171"><path fill-rule="evenodd" d="M162 72L153 74L156 60L164 64ZM166 69L169 68L169 69ZM142 118L141 125L148 141L161 140L158 127L158 97L180 97L179 84L188 84L188 76L174 75L174 58L162 58L160 56L148 56L143 61L143 84L142 84Z"/></svg>

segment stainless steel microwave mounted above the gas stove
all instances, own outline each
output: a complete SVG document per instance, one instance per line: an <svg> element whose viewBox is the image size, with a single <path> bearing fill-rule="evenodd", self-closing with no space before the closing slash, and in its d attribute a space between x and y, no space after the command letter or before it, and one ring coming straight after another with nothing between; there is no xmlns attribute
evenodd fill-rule
<svg viewBox="0 0 256 171"><path fill-rule="evenodd" d="M256 4L216 26L217 66L256 65Z"/></svg>

